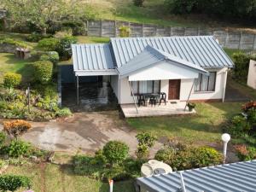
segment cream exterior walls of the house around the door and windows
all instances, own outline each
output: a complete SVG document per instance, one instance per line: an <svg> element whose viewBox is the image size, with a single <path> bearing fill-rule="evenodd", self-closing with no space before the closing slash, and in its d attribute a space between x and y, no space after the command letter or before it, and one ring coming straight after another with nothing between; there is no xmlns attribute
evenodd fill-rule
<svg viewBox="0 0 256 192"><path fill-rule="evenodd" d="M190 96L190 100L212 100L212 99L222 99L224 95L224 79L225 79L225 71L227 68L222 68L218 70L209 70L209 72L217 72L216 73L216 83L215 83L215 91L212 92L195 92L192 90L192 94ZM180 85L180 100L186 101L189 96L189 91L191 90L191 86L194 82L194 79L181 79ZM120 79L120 96L119 96L119 76L111 76L110 80L111 86L113 88L113 92L120 98L120 104L128 104L133 103L133 98L131 96L131 88L129 85L128 78ZM160 83L160 91L166 92L166 96L168 99L168 91L169 91L169 79L161 80ZM137 101L137 96L135 96Z"/></svg>

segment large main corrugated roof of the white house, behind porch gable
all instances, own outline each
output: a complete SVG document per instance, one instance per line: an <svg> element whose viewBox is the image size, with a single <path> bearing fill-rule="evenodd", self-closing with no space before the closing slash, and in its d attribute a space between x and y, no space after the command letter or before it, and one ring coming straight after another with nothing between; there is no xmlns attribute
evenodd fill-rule
<svg viewBox="0 0 256 192"><path fill-rule="evenodd" d="M131 61L147 45L203 68L234 65L213 36L111 38L110 41L117 67Z"/></svg>

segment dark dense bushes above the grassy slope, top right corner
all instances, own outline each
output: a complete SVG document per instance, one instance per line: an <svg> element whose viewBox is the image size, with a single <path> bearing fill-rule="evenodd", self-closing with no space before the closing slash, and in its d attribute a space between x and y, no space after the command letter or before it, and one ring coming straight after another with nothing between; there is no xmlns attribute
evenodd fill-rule
<svg viewBox="0 0 256 192"><path fill-rule="evenodd" d="M256 19L254 0L166 0L166 7L173 14L206 14L230 19Z"/></svg>

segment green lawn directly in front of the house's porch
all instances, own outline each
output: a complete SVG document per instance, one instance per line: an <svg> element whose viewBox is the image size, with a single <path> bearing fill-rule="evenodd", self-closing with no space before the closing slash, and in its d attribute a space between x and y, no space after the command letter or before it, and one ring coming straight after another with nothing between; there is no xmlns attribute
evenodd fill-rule
<svg viewBox="0 0 256 192"><path fill-rule="evenodd" d="M239 113L241 104L197 103L195 115L127 119L127 122L137 131L149 131L157 137L193 143L218 143L225 120Z"/></svg>

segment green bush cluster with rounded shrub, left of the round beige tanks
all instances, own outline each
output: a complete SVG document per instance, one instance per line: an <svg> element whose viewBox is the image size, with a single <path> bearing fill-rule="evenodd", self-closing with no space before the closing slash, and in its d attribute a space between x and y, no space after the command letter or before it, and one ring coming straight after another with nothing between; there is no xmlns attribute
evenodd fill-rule
<svg viewBox="0 0 256 192"><path fill-rule="evenodd" d="M144 161L128 158L128 151L125 143L106 143L103 150L98 150L94 157L76 155L73 159L74 172L103 181L139 177L140 167Z"/></svg>

